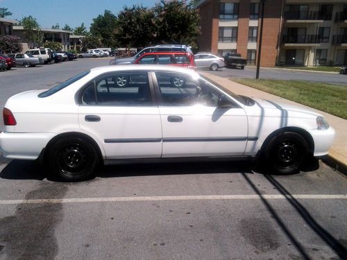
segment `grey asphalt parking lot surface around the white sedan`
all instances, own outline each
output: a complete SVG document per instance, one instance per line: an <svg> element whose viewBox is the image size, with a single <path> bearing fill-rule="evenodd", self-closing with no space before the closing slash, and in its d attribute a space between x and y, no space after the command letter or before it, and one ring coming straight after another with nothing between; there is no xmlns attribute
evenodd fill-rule
<svg viewBox="0 0 347 260"><path fill-rule="evenodd" d="M0 72L0 107L108 61ZM346 215L346 177L317 161L289 176L248 162L106 165L62 183L0 159L0 259L347 259Z"/></svg>

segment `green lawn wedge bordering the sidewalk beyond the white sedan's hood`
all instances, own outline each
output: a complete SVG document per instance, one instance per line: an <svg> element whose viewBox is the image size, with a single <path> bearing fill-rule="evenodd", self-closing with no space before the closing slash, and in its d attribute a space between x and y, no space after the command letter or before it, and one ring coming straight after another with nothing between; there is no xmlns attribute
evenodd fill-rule
<svg viewBox="0 0 347 260"><path fill-rule="evenodd" d="M347 85L313 83L302 80L246 78L233 78L232 80L347 119Z"/></svg>

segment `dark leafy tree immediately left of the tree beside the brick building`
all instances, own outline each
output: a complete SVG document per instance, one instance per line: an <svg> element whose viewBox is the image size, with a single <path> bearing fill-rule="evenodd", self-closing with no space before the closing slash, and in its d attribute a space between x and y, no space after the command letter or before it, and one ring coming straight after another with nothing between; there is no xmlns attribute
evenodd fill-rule
<svg viewBox="0 0 347 260"><path fill-rule="evenodd" d="M155 16L142 6L124 7L119 12L115 36L123 46L144 47L155 42Z"/></svg>

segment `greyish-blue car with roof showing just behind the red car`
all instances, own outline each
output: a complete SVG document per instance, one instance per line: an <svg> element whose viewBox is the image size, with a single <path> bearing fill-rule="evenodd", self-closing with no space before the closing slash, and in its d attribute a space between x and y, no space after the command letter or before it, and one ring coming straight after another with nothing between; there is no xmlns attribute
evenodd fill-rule
<svg viewBox="0 0 347 260"><path fill-rule="evenodd" d="M131 64L139 58L144 53L153 52L153 51L183 51L193 54L192 50L189 46L186 45L177 45L177 44L162 44L162 45L155 45L151 47L146 47L136 53L133 57L128 58L120 58L115 60L110 60L110 65L116 65L116 64Z"/></svg>

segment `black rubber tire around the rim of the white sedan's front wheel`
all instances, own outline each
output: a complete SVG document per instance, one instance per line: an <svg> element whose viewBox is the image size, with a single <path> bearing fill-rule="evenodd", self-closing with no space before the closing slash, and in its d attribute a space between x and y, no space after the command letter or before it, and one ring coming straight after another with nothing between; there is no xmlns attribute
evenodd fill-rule
<svg viewBox="0 0 347 260"><path fill-rule="evenodd" d="M278 147L281 143L285 141L291 141L296 146L296 157L294 162L288 166L280 165L278 159ZM308 156L309 146L307 141L303 138L302 135L296 132L281 132L276 137L273 137L266 147L265 151L265 162L266 169L271 171L271 173L276 174L293 174L298 173L300 166L305 161L305 158Z"/></svg>

